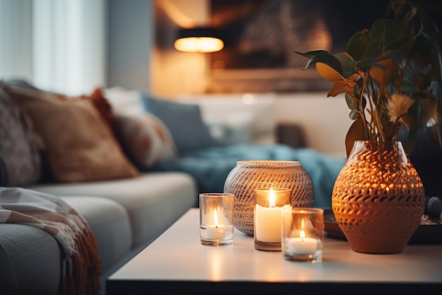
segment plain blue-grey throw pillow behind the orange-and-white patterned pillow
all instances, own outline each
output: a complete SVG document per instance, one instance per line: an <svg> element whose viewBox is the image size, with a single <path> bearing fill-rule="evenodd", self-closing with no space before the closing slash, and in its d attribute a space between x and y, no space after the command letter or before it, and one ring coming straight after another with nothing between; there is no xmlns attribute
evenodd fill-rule
<svg viewBox="0 0 442 295"><path fill-rule="evenodd" d="M153 98L146 93L141 93L140 100L146 112L167 126L179 153L220 146L204 124L199 105Z"/></svg>

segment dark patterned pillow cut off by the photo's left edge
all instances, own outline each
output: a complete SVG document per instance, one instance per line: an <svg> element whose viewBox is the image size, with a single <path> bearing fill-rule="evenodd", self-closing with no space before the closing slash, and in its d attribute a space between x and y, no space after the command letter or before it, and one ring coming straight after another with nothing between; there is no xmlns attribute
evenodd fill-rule
<svg viewBox="0 0 442 295"><path fill-rule="evenodd" d="M37 182L41 173L40 150L31 122L0 87L0 186Z"/></svg>

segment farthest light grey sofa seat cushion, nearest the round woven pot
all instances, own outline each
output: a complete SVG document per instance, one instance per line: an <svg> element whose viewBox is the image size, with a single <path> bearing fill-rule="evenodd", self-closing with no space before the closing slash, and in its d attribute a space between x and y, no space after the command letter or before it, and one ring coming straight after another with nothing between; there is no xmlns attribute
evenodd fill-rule
<svg viewBox="0 0 442 295"><path fill-rule="evenodd" d="M132 247L147 245L187 209L198 206L195 180L186 173L144 173L139 177L86 183L31 185L59 196L100 196L113 199L129 213Z"/></svg>

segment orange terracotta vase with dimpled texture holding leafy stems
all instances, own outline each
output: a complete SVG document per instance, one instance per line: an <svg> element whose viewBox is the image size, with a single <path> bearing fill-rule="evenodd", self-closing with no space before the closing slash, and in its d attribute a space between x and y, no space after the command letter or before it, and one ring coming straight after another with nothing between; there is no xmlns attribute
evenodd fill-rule
<svg viewBox="0 0 442 295"><path fill-rule="evenodd" d="M352 250L401 253L424 208L424 186L400 141L354 142L332 195L335 219Z"/></svg>

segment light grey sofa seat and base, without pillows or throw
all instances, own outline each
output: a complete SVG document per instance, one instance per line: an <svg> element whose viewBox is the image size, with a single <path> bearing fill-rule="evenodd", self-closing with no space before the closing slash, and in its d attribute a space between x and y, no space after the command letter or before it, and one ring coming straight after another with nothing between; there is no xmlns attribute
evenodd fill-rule
<svg viewBox="0 0 442 295"><path fill-rule="evenodd" d="M174 172L28 188L61 196L88 221L102 259L102 294L110 274L198 202L193 178ZM42 229L0 224L0 293L58 294L62 258L60 245Z"/></svg>

